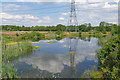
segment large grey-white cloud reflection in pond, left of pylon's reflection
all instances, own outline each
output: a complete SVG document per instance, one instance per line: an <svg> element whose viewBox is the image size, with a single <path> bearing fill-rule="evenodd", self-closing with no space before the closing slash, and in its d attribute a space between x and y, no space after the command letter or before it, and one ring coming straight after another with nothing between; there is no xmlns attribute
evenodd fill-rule
<svg viewBox="0 0 120 80"><path fill-rule="evenodd" d="M60 55L38 55L31 58L20 59L20 62L32 64L34 68L38 67L40 70L46 70L52 73L60 73L64 69Z"/></svg>

